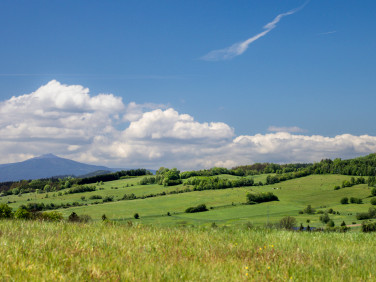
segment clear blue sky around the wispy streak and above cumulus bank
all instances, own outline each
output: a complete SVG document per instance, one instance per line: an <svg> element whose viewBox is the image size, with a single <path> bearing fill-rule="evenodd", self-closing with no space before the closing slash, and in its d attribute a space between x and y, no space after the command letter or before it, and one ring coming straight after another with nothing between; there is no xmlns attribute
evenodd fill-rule
<svg viewBox="0 0 376 282"><path fill-rule="evenodd" d="M225 60L205 59L212 51L260 34L278 15L299 7L243 53ZM139 107L142 113L173 108L199 124L222 122L233 130L233 139L279 131L372 137L376 135L375 16L375 1L5 0L0 2L0 101L5 107L12 96L30 94L56 80L87 87L91 97L100 93L121 97L124 109L135 102L144 105ZM121 131L132 121L111 126ZM11 121L3 128L9 125ZM36 142L33 138L41 137L15 135L13 140ZM188 141L187 146L196 143ZM13 149L12 157L4 152L3 159L16 161L39 153L26 148ZM89 162L107 158L84 150L69 155L60 147L54 153ZM271 152L265 158L250 157L249 162L266 157L304 161L303 156L289 159ZM174 165L182 157L162 154L155 163L151 158L144 163ZM192 161L191 166L208 165L212 163Z"/></svg>

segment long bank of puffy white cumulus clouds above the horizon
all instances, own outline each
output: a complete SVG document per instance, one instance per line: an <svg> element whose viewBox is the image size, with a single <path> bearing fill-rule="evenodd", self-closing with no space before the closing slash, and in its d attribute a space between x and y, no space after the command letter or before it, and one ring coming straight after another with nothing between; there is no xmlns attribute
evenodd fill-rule
<svg viewBox="0 0 376 282"><path fill-rule="evenodd" d="M33 93L0 102L0 160L54 153L112 167L186 170L376 152L375 136L309 136L298 127L269 130L273 132L236 136L222 122L198 122L163 105L124 104L113 94L93 96L80 85L51 81Z"/></svg>

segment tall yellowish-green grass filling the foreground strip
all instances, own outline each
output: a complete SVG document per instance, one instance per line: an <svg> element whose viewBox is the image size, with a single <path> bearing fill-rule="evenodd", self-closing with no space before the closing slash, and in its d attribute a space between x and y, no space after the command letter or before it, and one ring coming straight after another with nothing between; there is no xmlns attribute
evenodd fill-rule
<svg viewBox="0 0 376 282"><path fill-rule="evenodd" d="M374 280L374 234L0 220L0 280Z"/></svg>

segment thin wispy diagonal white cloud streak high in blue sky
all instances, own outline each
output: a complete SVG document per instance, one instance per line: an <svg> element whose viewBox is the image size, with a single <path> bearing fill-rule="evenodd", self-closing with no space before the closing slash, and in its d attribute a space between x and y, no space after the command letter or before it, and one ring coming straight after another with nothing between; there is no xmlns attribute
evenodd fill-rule
<svg viewBox="0 0 376 282"><path fill-rule="evenodd" d="M250 38L248 38L245 41L235 43L231 45L230 47L224 48L224 49L219 49L219 50L214 50L203 56L201 59L205 61L220 61L220 60L228 60L232 59L233 57L239 56L243 54L247 49L248 46L255 42L257 39L260 39L261 37L265 36L268 34L270 31L272 31L276 26L277 23L285 16L289 16L292 14L295 14L299 10L301 10L308 2L306 2L304 5L302 5L299 8L293 9L291 11L288 11L286 13L279 14L272 20L271 22L267 23L264 25L264 31L260 32Z"/></svg>

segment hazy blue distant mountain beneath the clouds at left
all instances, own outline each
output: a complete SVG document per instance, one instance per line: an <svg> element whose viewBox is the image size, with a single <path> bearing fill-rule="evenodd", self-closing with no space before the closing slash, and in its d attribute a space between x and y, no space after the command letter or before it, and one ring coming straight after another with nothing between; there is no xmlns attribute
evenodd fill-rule
<svg viewBox="0 0 376 282"><path fill-rule="evenodd" d="M105 166L88 165L47 154L19 163L0 165L0 182L62 175L80 176L98 171L114 172L115 170Z"/></svg>

